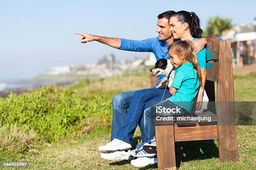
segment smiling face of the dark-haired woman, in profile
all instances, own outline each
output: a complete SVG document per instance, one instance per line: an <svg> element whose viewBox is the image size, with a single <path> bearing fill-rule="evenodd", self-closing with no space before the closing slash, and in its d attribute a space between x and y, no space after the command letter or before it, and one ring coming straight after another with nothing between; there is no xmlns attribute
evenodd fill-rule
<svg viewBox="0 0 256 170"><path fill-rule="evenodd" d="M174 39L181 39L184 35L184 23L180 23L177 17L170 18L170 31Z"/></svg>

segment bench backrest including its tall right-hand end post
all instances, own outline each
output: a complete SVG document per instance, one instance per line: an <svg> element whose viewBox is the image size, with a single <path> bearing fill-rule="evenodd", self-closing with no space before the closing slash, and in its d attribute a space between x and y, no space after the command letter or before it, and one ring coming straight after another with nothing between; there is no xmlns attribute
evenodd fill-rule
<svg viewBox="0 0 256 170"><path fill-rule="evenodd" d="M216 112L219 155L237 161L236 113L230 40L208 43L206 61L205 90L210 101L215 101L214 82L217 81Z"/></svg>

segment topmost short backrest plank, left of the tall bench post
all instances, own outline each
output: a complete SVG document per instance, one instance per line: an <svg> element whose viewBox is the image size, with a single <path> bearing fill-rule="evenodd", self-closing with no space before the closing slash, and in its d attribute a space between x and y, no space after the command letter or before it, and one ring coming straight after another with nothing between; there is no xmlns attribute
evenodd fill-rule
<svg viewBox="0 0 256 170"><path fill-rule="evenodd" d="M206 61L218 60L219 58L219 41L209 42L206 46Z"/></svg>

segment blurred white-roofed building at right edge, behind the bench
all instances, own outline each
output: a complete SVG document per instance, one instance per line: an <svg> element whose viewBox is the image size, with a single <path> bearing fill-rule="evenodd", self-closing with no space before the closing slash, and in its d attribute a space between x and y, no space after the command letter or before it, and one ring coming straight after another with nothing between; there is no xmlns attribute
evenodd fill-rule
<svg viewBox="0 0 256 170"><path fill-rule="evenodd" d="M240 66L253 63L253 57L249 56L249 47L252 40L256 39L256 20L224 31L222 38L231 40L231 48L234 53L233 65Z"/></svg>

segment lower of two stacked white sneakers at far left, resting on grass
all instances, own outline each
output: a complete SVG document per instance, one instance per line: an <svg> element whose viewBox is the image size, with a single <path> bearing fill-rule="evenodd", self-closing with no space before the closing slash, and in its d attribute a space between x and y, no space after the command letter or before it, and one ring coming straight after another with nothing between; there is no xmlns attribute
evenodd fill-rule
<svg viewBox="0 0 256 170"><path fill-rule="evenodd" d="M116 151L114 153L102 153L100 157L106 160L131 160L131 150Z"/></svg>

